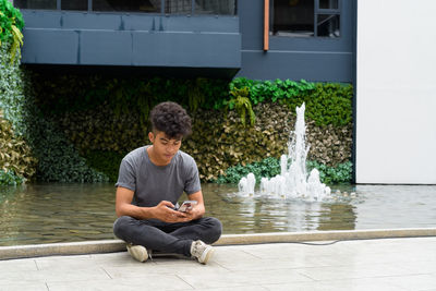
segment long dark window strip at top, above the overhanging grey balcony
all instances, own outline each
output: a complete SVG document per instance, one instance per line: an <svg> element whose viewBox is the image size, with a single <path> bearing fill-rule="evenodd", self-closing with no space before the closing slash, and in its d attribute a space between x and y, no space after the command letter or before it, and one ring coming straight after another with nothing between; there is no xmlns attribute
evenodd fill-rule
<svg viewBox="0 0 436 291"><path fill-rule="evenodd" d="M89 4L89 7L88 7ZM20 9L234 15L237 0L15 0Z"/></svg>

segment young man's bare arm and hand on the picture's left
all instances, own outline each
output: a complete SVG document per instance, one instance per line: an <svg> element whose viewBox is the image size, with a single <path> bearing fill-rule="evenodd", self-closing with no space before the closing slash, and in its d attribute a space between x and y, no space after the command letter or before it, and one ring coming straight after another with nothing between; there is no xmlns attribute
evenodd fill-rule
<svg viewBox="0 0 436 291"><path fill-rule="evenodd" d="M171 208L171 202L162 201L155 207L140 207L132 205L134 192L126 187L117 187L116 213L117 216L130 216L136 219L159 219L165 222L183 222L191 220L186 214Z"/></svg>

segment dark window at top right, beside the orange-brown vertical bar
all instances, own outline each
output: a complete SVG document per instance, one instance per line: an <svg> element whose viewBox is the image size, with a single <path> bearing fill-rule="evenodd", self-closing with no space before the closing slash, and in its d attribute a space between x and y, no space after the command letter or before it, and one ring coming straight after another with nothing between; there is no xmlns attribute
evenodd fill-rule
<svg viewBox="0 0 436 291"><path fill-rule="evenodd" d="M289 37L339 37L340 1L272 0L270 34Z"/></svg>

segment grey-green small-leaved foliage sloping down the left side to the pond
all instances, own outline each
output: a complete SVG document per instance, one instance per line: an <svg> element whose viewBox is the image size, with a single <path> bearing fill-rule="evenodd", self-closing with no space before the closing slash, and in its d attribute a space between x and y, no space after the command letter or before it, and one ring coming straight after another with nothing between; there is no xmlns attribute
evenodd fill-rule
<svg viewBox="0 0 436 291"><path fill-rule="evenodd" d="M86 165L73 145L55 122L38 109L32 83L19 68L20 60L9 62L9 49L0 51L0 108L12 123L15 135L22 136L38 160L36 178L39 181L97 182L108 178ZM26 156L23 156L26 158ZM32 168L26 169L29 173Z"/></svg>

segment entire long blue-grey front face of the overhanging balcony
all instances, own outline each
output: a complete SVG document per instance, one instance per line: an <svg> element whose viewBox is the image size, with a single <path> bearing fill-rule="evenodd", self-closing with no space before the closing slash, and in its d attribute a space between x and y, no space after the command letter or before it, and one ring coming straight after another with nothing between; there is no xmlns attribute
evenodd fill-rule
<svg viewBox="0 0 436 291"><path fill-rule="evenodd" d="M23 63L240 68L239 34L26 28Z"/></svg>

